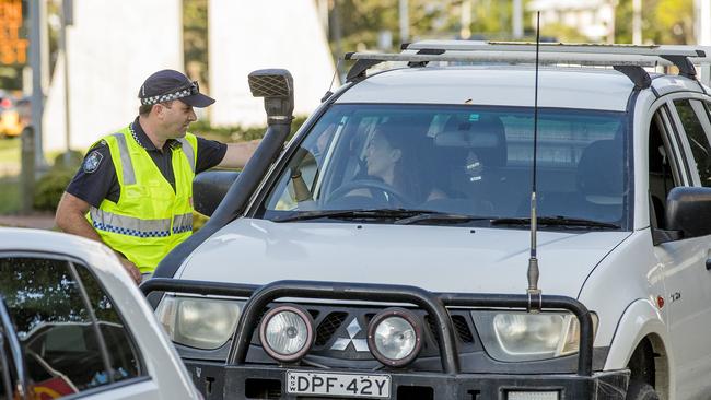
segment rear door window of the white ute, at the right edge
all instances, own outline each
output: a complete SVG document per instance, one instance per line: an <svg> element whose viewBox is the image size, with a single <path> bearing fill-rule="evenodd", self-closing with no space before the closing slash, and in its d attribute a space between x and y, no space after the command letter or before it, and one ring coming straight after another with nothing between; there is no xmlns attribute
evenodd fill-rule
<svg viewBox="0 0 711 400"><path fill-rule="evenodd" d="M711 146L709 145L709 137L699 119L701 116L708 125L706 109L701 102L690 99L675 101L674 106L681 119L701 185L711 187Z"/></svg>

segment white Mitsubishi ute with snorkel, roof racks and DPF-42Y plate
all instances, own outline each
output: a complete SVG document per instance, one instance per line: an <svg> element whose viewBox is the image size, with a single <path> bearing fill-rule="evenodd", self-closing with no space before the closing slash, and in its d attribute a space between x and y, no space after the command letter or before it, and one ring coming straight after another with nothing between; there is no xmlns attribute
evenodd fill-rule
<svg viewBox="0 0 711 400"><path fill-rule="evenodd" d="M291 78L249 77L261 146L143 286L206 398L711 396L704 51L535 47L349 54L283 151Z"/></svg>

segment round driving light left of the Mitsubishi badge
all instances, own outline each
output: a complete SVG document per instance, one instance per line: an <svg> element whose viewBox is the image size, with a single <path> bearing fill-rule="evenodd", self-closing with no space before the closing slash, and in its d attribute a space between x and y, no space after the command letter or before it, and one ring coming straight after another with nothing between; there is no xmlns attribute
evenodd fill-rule
<svg viewBox="0 0 711 400"><path fill-rule="evenodd" d="M314 343L314 320L301 307L275 307L261 319L259 340L270 357L282 363L294 362Z"/></svg>

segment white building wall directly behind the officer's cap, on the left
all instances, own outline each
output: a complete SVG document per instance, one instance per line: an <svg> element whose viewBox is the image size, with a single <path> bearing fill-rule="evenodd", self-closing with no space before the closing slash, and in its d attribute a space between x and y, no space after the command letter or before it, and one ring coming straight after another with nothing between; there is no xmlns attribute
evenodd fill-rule
<svg viewBox="0 0 711 400"><path fill-rule="evenodd" d="M148 75L183 69L182 0L73 3L67 33L70 145L86 149L138 115L138 90ZM67 148L61 57L45 104L45 151Z"/></svg>

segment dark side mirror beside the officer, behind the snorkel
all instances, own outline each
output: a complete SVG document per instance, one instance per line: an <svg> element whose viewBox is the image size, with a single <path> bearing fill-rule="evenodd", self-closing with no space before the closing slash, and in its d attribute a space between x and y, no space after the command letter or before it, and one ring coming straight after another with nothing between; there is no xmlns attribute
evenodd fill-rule
<svg viewBox="0 0 711 400"><path fill-rule="evenodd" d="M202 215L211 216L224 199L240 173L234 170L208 170L193 180L193 207Z"/></svg>

